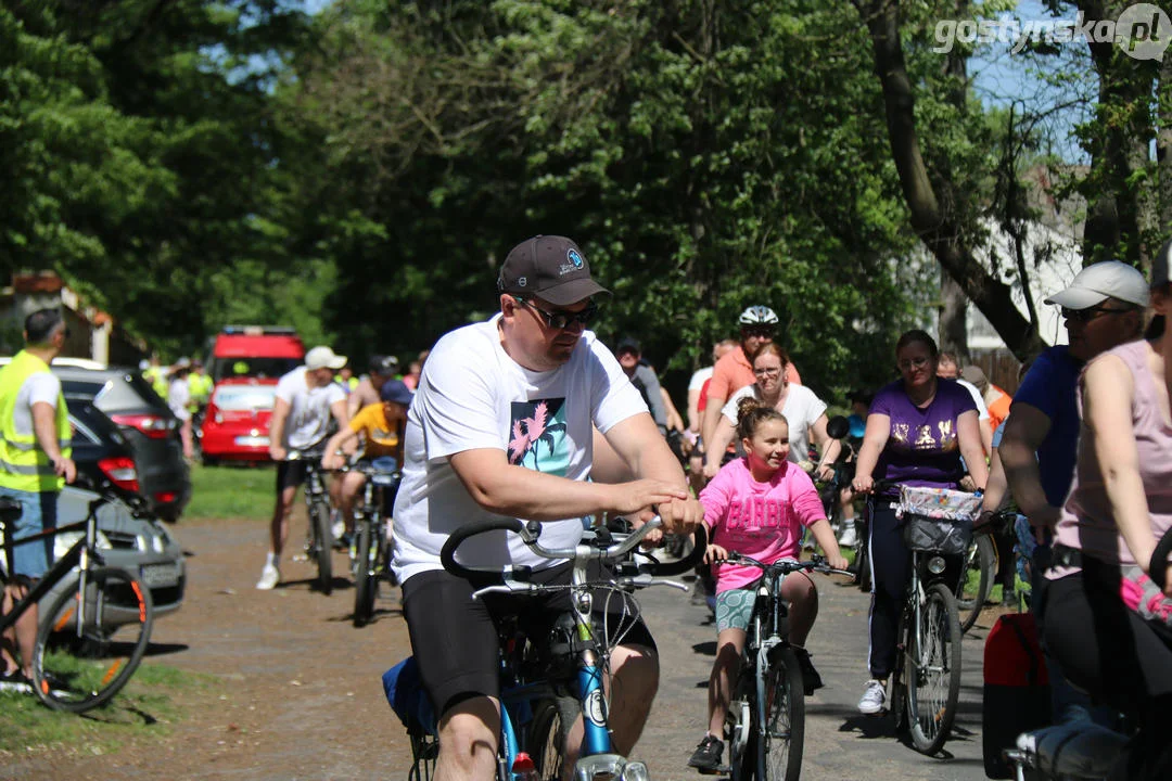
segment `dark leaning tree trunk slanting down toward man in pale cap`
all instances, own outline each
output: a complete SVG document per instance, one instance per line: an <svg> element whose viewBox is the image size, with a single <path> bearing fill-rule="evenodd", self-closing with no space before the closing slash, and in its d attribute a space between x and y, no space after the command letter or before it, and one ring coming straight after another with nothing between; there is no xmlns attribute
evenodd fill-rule
<svg viewBox="0 0 1172 781"><path fill-rule="evenodd" d="M856 4L871 36L892 157L911 210L913 229L1014 355L1018 359L1036 355L1045 348L1037 326L1014 306L1010 287L989 274L973 256L972 247L965 245L960 222L940 208L917 133L915 96L904 61L898 0L856 0ZM948 186L947 180L943 186Z"/></svg>

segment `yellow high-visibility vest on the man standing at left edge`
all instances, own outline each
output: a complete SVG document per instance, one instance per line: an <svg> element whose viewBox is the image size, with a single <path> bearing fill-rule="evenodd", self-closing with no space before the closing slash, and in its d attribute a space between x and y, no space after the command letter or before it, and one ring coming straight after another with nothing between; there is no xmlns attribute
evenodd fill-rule
<svg viewBox="0 0 1172 781"><path fill-rule="evenodd" d="M64 478L53 471L48 454L36 441L29 426L28 433L16 431L16 395L25 381L33 375L48 371L49 365L27 350L21 350L12 362L0 369L0 486L13 491L45 492L61 491ZM32 424L32 412L29 412ZM61 454L69 458L73 433L69 430L69 410L66 397L57 392L56 411L57 445Z"/></svg>

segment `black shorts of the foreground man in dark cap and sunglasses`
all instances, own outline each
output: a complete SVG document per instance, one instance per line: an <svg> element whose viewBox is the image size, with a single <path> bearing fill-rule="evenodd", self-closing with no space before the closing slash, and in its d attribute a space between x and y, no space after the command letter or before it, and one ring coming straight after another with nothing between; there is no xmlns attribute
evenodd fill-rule
<svg viewBox="0 0 1172 781"><path fill-rule="evenodd" d="M534 583L568 583L570 566L536 571L531 580ZM470 697L499 698L497 616L516 615L522 631L532 642L540 643L558 617L570 609L568 589L532 596L493 594L476 601L471 598L473 590L466 580L444 570L421 573L403 583L403 615L411 651L420 665L423 688L441 715ZM613 632L624 601L615 595L607 604L606 596L607 591L594 595L595 623L606 618ZM607 610L608 617L604 612ZM624 626L629 624L629 617L624 619ZM624 636L622 645L655 650L655 640L642 618Z"/></svg>

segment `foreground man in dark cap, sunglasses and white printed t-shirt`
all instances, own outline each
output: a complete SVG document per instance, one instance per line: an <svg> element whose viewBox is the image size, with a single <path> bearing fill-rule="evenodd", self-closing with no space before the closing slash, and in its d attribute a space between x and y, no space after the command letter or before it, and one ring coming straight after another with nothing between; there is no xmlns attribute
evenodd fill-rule
<svg viewBox="0 0 1172 781"><path fill-rule="evenodd" d="M473 602L472 585L440 563L448 536L505 515L544 521L541 543L564 548L594 513L646 519L654 507L668 529L681 532L703 518L639 391L585 330L593 296L607 292L591 279L581 249L563 237L523 241L506 256L497 289L499 314L447 334L424 364L395 501L391 566L423 685L441 714L440 781L495 777L495 621L517 615L523 598ZM619 474L628 481L605 482ZM476 567L527 564L534 580L568 582L565 564L550 567L503 532L471 537L459 557ZM552 625L565 594L526 597L538 600L524 603L526 618ZM611 727L615 749L626 754L659 684L654 640L641 622L614 649L611 672ZM567 761L580 742L579 721Z"/></svg>

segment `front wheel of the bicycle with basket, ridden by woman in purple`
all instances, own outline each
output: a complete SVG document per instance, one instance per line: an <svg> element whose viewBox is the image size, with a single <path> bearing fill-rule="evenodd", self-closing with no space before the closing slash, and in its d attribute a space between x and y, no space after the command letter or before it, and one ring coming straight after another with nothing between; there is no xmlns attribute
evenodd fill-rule
<svg viewBox="0 0 1172 781"><path fill-rule="evenodd" d="M928 588L920 625L908 637L905 676L912 744L935 754L948 739L960 698L960 619L956 598L942 583Z"/></svg>

